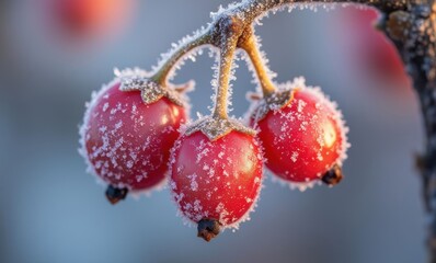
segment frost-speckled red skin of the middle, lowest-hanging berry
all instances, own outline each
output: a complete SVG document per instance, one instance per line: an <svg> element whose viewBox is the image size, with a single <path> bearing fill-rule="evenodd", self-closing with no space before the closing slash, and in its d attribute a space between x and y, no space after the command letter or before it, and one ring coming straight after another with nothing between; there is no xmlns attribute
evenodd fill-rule
<svg viewBox="0 0 436 263"><path fill-rule="evenodd" d="M182 214L194 222L238 224L262 185L262 156L253 136L231 132L210 141L202 132L174 147L170 186Z"/></svg>

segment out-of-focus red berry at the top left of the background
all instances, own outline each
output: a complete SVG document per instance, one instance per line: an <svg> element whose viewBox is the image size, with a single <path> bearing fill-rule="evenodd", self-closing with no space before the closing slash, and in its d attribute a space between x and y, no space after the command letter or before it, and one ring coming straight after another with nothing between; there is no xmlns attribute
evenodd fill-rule
<svg viewBox="0 0 436 263"><path fill-rule="evenodd" d="M54 22L76 35L111 32L127 19L131 0L48 0Z"/></svg>

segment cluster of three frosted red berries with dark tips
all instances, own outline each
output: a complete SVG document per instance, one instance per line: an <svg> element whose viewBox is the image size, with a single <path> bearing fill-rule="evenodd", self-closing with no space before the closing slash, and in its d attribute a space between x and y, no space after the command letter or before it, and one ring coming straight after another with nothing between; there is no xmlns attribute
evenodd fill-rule
<svg viewBox="0 0 436 263"><path fill-rule="evenodd" d="M82 153L113 204L168 182L182 216L208 241L248 218L264 164L291 185L342 179L347 128L320 89L297 79L252 104L245 125L190 122L184 93L128 71L88 104Z"/></svg>

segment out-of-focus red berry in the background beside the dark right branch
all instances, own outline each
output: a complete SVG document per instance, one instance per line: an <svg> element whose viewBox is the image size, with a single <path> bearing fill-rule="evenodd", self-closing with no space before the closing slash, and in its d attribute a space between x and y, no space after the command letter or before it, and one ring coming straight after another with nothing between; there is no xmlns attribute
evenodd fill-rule
<svg viewBox="0 0 436 263"><path fill-rule="evenodd" d="M354 55L351 57L374 77L409 87L409 78L395 47L374 27L379 16L377 11L347 8L343 13L351 31L348 41L353 42Z"/></svg>

